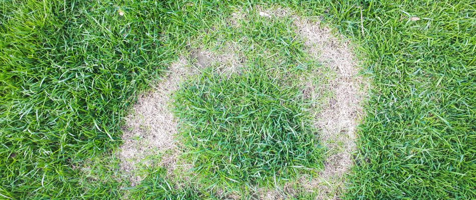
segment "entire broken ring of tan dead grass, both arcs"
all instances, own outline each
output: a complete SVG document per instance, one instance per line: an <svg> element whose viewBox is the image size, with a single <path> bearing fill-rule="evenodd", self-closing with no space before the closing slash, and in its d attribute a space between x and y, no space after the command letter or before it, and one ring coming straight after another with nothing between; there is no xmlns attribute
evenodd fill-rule
<svg viewBox="0 0 476 200"><path fill-rule="evenodd" d="M356 127L363 115L361 105L368 95L365 92L368 81L358 75L358 60L354 57L349 41L334 34L331 28L321 24L315 18L311 20L299 17L286 8L259 7L258 10L257 14L264 12L266 14L260 15L266 18L291 17L297 27L296 32L305 39L310 55L329 69L329 71L315 71L314 77L311 75L303 80L307 84L303 93L313 100L323 102L322 106L310 111L315 116L314 125L321 130L322 144L330 150L325 160L324 170L319 176L304 177L296 184L304 186L308 191L317 192L318 198L338 198L344 189L345 174L353 164L352 152L356 148ZM234 15L240 16L242 13ZM234 24L239 22L236 20L247 20L246 15L232 18ZM221 57L219 53L210 54L206 50L196 52L208 55L207 59L211 60L210 62L220 58L232 63L240 62L234 58L236 56L229 56L229 52ZM231 60L224 57L230 57ZM174 137L177 132L177 122L167 106L167 102L170 102L170 93L178 88L179 83L189 74L198 72L190 66L182 57L171 65L171 73L159 82L153 91L139 97L125 126L124 145L121 146L119 152L122 160L121 168L134 170L137 168L137 163L147 163L145 157L155 153L165 153L162 156L164 161L161 165L166 166L169 171L173 171L177 166L190 167L186 163L177 163L178 143ZM234 71L235 69L236 67L231 67L226 70ZM322 76L331 78L325 84L315 84L312 81L313 78L319 79ZM327 96L324 93L332 93L332 95ZM157 141L160 138L163 142ZM133 179L140 180L140 178ZM286 196L278 190L262 188L259 192L262 199L267 199L267 196L283 198Z"/></svg>

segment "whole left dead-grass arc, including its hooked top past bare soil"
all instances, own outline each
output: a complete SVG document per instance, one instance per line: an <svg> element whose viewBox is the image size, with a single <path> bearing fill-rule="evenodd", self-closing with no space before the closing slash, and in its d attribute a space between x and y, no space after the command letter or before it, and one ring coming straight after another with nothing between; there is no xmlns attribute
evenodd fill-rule
<svg viewBox="0 0 476 200"><path fill-rule="evenodd" d="M211 51L206 49L190 50L189 55L181 56L168 68L163 80L137 99L132 112L126 118L118 157L120 168L130 174L133 185L143 177L137 173L142 165L154 164L154 158L160 156L159 166L167 168L169 177L175 176L175 170L186 173L191 164L179 159L181 144L176 138L177 120L169 109L171 94L179 88L181 82L198 74L205 67L212 67L217 73L231 74L240 72L244 67L244 58L236 53L233 43ZM179 177L184 181L190 177ZM180 184L180 182L178 183Z"/></svg>

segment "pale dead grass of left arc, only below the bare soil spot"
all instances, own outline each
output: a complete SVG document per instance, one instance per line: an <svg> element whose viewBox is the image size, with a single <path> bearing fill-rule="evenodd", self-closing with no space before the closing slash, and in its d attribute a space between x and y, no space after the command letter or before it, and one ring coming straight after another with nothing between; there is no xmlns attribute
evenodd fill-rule
<svg viewBox="0 0 476 200"><path fill-rule="evenodd" d="M159 165L166 167L169 174L177 166L177 121L168 108L168 102L180 82L196 74L198 69L189 66L182 56L170 65L169 71L164 80L153 86L152 91L139 96L132 114L126 119L122 135L124 143L118 153L121 169L126 172L133 172L142 164L151 164L148 157L157 154L162 154ZM138 182L141 177L132 175L131 180Z"/></svg>

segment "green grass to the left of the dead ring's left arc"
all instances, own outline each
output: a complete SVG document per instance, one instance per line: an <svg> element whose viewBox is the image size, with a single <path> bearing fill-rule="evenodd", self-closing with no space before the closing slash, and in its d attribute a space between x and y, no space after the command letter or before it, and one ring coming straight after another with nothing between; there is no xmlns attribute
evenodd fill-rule
<svg viewBox="0 0 476 200"><path fill-rule="evenodd" d="M88 185L72 165L117 146L135 94L176 56L180 44L160 38L168 36L163 23L174 18L163 19L170 6L0 2L4 197L117 198L118 187L84 193Z"/></svg>

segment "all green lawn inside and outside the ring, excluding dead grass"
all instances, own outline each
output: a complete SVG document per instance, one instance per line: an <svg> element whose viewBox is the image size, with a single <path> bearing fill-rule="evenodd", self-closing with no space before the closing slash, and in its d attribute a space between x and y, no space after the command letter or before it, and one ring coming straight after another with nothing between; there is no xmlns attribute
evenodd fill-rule
<svg viewBox="0 0 476 200"><path fill-rule="evenodd" d="M2 0L0 198L254 199L260 188L316 198L288 184L319 175L331 151L308 111L322 102L300 93L302 78L326 68L292 17L259 7L321 20L361 60L369 97L340 198L476 198L471 0ZM190 49L227 41L241 43L250 69L205 69L169 105L193 178L170 178L157 154L132 184L117 152L139 95Z"/></svg>

